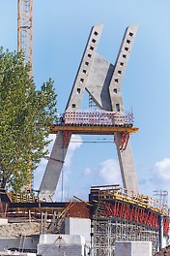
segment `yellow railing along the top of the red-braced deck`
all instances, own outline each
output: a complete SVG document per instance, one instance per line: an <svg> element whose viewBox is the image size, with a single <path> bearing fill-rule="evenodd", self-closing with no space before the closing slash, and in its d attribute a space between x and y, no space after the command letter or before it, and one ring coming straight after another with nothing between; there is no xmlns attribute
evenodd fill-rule
<svg viewBox="0 0 170 256"><path fill-rule="evenodd" d="M134 191L128 191L124 188L99 190L99 199L114 198L118 200L127 201L128 203L136 204L144 208L151 208L157 212L169 216L169 208L163 202L142 194L135 193Z"/></svg>

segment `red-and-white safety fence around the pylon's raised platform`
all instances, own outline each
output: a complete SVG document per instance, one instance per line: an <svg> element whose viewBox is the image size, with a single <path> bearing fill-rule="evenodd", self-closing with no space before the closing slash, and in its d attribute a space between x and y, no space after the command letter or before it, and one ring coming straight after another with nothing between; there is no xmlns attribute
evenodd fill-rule
<svg viewBox="0 0 170 256"><path fill-rule="evenodd" d="M56 124L133 125L133 112L65 112L56 118Z"/></svg>

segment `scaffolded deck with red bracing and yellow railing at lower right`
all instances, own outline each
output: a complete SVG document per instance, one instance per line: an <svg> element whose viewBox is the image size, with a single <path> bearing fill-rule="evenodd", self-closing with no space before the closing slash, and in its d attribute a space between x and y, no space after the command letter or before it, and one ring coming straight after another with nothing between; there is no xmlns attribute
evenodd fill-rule
<svg viewBox="0 0 170 256"><path fill-rule="evenodd" d="M91 187L93 256L114 255L116 241L152 241L159 245L160 216L168 243L169 214L162 202L122 189L118 184Z"/></svg>

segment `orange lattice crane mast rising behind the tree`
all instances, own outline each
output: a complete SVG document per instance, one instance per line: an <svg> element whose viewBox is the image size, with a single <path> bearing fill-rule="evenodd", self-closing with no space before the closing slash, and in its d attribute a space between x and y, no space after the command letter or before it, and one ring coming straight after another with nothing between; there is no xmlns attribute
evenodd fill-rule
<svg viewBox="0 0 170 256"><path fill-rule="evenodd" d="M17 0L17 51L25 55L33 76L33 0Z"/></svg>

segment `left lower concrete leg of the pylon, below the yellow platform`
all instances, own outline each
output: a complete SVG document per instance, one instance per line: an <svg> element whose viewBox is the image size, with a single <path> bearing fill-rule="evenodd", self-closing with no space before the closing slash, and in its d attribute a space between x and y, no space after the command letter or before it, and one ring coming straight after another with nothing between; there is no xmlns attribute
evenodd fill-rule
<svg viewBox="0 0 170 256"><path fill-rule="evenodd" d="M71 135L69 136L68 140L70 142ZM62 131L59 131L57 133L57 137L53 145L46 170L42 177L39 193L40 200L45 200L47 202L52 201L52 196L55 193L67 150L68 144L64 143L64 134Z"/></svg>

